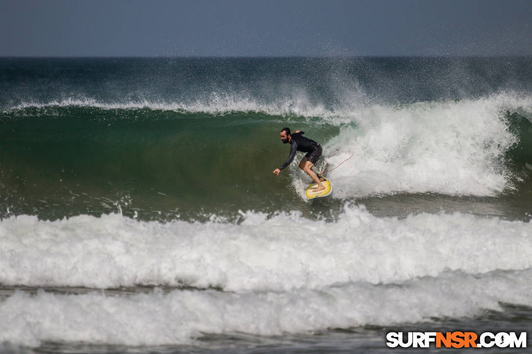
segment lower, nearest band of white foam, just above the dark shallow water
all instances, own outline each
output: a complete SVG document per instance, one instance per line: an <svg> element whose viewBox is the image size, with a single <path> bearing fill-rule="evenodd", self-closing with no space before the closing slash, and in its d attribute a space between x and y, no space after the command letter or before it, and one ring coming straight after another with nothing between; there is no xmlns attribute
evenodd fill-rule
<svg viewBox="0 0 532 354"><path fill-rule="evenodd" d="M205 333L281 335L475 316L499 302L532 305L532 271L446 272L394 285L228 293L154 291L128 297L16 292L0 302L0 342L190 343ZM511 289L511 290L510 290Z"/></svg>

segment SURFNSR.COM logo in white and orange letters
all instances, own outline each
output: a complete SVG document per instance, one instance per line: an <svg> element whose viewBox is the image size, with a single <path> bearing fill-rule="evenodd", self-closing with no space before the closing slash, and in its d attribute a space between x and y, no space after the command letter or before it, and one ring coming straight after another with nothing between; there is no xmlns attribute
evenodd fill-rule
<svg viewBox="0 0 532 354"><path fill-rule="evenodd" d="M386 345L390 348L428 348L433 343L436 348L526 348L527 333L521 332L389 332Z"/></svg>

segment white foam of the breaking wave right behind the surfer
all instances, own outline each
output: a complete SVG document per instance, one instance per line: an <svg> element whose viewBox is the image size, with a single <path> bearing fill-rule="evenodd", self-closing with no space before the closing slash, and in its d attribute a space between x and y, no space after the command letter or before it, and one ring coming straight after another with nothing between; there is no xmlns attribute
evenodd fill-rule
<svg viewBox="0 0 532 354"><path fill-rule="evenodd" d="M356 117L358 127L342 128L324 147L333 166L353 155L329 174L335 197L394 192L492 196L512 188L504 154L517 137L504 112L520 107L532 113L531 103L501 95L367 108Z"/></svg>

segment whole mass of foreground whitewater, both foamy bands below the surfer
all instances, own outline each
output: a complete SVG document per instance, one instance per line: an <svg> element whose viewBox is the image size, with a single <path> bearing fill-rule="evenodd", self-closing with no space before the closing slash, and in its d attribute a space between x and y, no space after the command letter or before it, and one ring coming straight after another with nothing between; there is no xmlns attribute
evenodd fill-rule
<svg viewBox="0 0 532 354"><path fill-rule="evenodd" d="M297 214L243 217L239 224L119 214L3 220L3 285L166 290L17 290L0 303L0 339L185 344L201 333L281 335L475 316L500 310L499 302L532 305L529 222L464 214L398 220L360 207L346 207L334 224ZM150 336L147 323L156 326Z"/></svg>

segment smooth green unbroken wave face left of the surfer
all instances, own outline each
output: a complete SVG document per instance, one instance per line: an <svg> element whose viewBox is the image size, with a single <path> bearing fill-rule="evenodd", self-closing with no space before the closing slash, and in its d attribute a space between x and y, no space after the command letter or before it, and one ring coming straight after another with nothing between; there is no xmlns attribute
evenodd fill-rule
<svg viewBox="0 0 532 354"><path fill-rule="evenodd" d="M338 132L297 117L290 123L317 140ZM57 218L120 208L145 218L201 220L240 209L294 209L304 202L290 172L271 173L288 155L279 139L285 125L280 116L253 112L71 106L11 112L0 132L4 212Z"/></svg>

